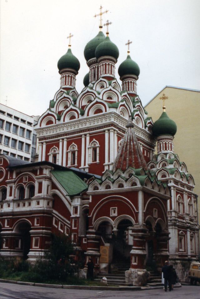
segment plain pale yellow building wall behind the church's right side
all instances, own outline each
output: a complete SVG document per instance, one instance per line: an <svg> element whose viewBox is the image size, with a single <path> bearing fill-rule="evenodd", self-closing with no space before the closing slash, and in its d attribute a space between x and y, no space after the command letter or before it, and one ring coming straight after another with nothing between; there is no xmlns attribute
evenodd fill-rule
<svg viewBox="0 0 200 299"><path fill-rule="evenodd" d="M200 220L200 90L187 89L175 86L165 86L145 109L153 122L162 114L163 102L160 97L165 94L166 113L175 121L177 133L174 136L174 153L180 161L185 162L187 171L195 181L194 192L198 195L198 218Z"/></svg>

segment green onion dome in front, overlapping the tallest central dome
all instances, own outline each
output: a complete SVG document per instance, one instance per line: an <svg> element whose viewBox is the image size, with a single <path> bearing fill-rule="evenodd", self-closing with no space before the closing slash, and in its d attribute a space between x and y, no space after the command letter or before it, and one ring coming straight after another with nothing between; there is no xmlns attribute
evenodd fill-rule
<svg viewBox="0 0 200 299"><path fill-rule="evenodd" d="M97 59L102 56L112 56L115 59L118 59L119 50L118 47L113 42L111 42L109 36L107 36L104 42L101 42L96 47L95 56Z"/></svg>

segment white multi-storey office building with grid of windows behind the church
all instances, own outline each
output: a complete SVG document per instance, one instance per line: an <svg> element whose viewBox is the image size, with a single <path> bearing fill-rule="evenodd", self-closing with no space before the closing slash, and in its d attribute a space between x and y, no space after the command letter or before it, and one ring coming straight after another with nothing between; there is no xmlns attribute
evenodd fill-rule
<svg viewBox="0 0 200 299"><path fill-rule="evenodd" d="M38 118L0 104L0 154L34 162Z"/></svg>

